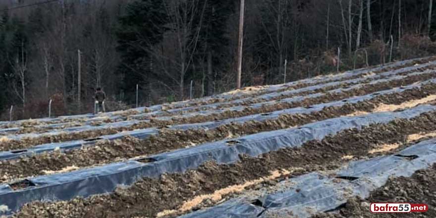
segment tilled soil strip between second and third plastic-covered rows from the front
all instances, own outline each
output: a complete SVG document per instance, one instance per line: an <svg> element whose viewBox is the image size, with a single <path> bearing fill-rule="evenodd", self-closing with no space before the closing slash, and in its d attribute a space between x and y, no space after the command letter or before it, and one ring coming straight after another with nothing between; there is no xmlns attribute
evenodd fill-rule
<svg viewBox="0 0 436 218"><path fill-rule="evenodd" d="M425 98L436 94L436 84L423 86L421 89L406 90L378 96L369 101L357 104L346 104L342 107L329 107L310 114L282 115L275 120L249 121L245 123L231 123L211 130L160 130L158 136L150 139L138 140L125 137L122 140L102 141L96 146L66 151L54 152L17 160L1 161L0 182L10 181L21 177L44 174L44 171L58 171L68 166L87 167L96 164L111 163L138 156L148 156L174 149L191 147L196 144L217 141L228 137L254 134L307 124L313 121L347 115L354 111L371 111L380 104L399 105L404 102ZM28 167L32 165L33 167Z"/></svg>

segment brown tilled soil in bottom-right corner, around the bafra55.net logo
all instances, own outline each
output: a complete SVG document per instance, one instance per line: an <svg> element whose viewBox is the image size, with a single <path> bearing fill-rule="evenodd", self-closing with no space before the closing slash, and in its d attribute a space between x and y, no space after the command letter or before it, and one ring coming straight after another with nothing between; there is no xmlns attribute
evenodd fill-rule
<svg viewBox="0 0 436 218"><path fill-rule="evenodd" d="M418 170L411 177L390 178L381 188L371 192L367 199L348 200L338 214L320 214L314 218L435 218L436 217L436 164ZM372 214L373 202L407 202L427 204L429 211L408 214Z"/></svg>

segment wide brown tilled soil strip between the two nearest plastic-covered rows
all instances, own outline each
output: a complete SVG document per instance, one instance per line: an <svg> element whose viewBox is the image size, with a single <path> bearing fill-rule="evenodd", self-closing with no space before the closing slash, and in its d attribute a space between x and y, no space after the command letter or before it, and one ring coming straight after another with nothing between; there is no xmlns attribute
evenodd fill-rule
<svg viewBox="0 0 436 218"><path fill-rule="evenodd" d="M310 141L300 148L281 149L256 158L242 156L233 164L209 162L185 173L163 174L158 179L143 178L108 195L76 198L68 202L34 202L25 205L14 216L154 217L164 210L177 210L184 201L195 196L266 177L273 170L301 168L292 173L296 176L315 170L336 169L347 163L342 159L344 156L362 159L380 155L369 154L369 151L382 144L402 144L410 134L435 131L435 115L436 112L429 112L410 120L397 119L361 130L345 130L322 141Z"/></svg>

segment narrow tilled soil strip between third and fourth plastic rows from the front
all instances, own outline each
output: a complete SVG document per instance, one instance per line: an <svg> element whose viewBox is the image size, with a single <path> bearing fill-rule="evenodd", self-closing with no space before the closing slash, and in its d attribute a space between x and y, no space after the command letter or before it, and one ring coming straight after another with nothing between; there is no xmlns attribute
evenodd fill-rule
<svg viewBox="0 0 436 218"><path fill-rule="evenodd" d="M213 121L213 120L221 120L221 119L227 119L227 118L247 116L247 115L252 115L252 114L257 114L257 113L271 112L271 111L280 110L280 109L289 109L289 108L295 108L295 107L308 107L310 105L327 103L327 102L331 102L331 101L337 101L337 100L349 98L352 96L366 95L366 94L370 94L370 93L373 93L376 91L390 89L392 87L410 85L410 84L413 84L415 82L424 81L424 80L428 80L431 78L436 78L436 74L432 72L432 73L426 73L426 74L422 74L422 75L408 76L408 77L405 77L403 79L389 81L389 82L382 82L382 83L377 83L377 84L367 84L367 85L364 85L363 87L358 88L358 89L351 89L351 90L340 92L340 93L327 93L323 96L316 97L316 98L304 99L303 101L300 101L300 102L277 103L274 105L264 105L264 106L257 108L257 109L246 108L242 111L224 111L221 113L211 114L208 116L197 115L197 116L192 116L192 117L188 117L188 118L173 117L172 120L169 120L169 121L151 119L150 122L144 121L144 122L140 122L137 124L133 124L132 126L128 126L128 127L89 130L89 131L83 131L83 132L63 133L63 134L50 135L50 136L42 135L40 137L26 138L26 139L22 139L22 140L0 140L0 151L24 149L24 148L29 148L29 147L32 147L35 145L46 144L46 143L64 142L64 141L87 139L87 138L96 138L96 137L101 136L101 135L115 134L115 133L118 133L121 131L129 131L129 130L135 130L135 129L149 128L149 127L164 127L167 125L182 124L182 123L207 122L207 121Z"/></svg>

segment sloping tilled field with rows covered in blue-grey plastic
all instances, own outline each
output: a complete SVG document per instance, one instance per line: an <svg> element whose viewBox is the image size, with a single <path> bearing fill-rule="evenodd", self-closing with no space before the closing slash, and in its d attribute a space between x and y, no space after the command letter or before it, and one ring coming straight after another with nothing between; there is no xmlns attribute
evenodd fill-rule
<svg viewBox="0 0 436 218"><path fill-rule="evenodd" d="M433 56L0 122L0 216L357 218L410 202L429 211L403 217L434 218L435 179Z"/></svg>

